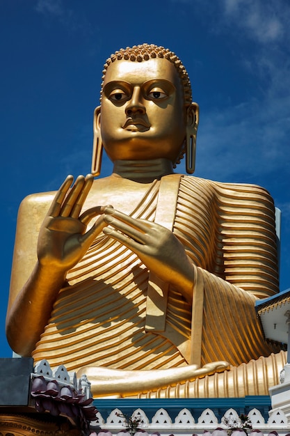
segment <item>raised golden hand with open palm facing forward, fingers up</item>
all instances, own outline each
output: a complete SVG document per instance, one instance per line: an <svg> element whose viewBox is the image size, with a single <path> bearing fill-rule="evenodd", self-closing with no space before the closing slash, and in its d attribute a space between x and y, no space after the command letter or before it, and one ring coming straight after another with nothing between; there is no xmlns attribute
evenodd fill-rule
<svg viewBox="0 0 290 436"><path fill-rule="evenodd" d="M96 206L80 215L92 186L93 176L79 176L70 189L72 180L72 176L67 176L58 189L38 237L40 265L64 273L79 262L97 234L106 226L103 218L99 217L86 232L89 221L101 215L104 208Z"/></svg>

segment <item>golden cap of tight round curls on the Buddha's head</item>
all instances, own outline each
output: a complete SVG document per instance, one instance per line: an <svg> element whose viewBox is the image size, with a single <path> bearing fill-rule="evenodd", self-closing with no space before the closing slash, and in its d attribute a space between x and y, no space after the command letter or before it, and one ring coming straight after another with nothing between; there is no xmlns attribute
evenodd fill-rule
<svg viewBox="0 0 290 436"><path fill-rule="evenodd" d="M164 47L154 45L154 44L140 44L134 45L133 47L126 47L125 49L120 49L106 60L104 64L103 76L102 76L102 86L101 86L101 100L102 100L102 89L104 84L104 78L106 75L106 70L108 65L115 61L132 61L132 62L142 62L148 61L149 59L164 58L168 59L175 66L177 73L182 80L182 86L184 88L184 100L186 104L191 104L192 93L191 93L191 82L189 80L187 71L182 64L182 61L176 56L175 53L170 52L169 49Z"/></svg>

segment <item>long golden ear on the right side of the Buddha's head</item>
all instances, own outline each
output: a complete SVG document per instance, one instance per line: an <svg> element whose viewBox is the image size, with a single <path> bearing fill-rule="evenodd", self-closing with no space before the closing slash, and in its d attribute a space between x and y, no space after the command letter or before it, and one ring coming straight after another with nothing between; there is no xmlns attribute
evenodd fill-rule
<svg viewBox="0 0 290 436"><path fill-rule="evenodd" d="M186 172L192 174L195 170L196 135L198 133L200 108L192 102L186 108Z"/></svg>

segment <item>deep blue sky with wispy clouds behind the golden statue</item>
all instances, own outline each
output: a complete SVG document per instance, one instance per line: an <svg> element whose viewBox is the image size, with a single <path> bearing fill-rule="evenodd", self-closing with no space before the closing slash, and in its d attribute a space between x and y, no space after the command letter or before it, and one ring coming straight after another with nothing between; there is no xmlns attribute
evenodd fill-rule
<svg viewBox="0 0 290 436"><path fill-rule="evenodd" d="M289 0L0 1L0 357L11 354L19 203L90 171L102 66L120 47L154 43L182 59L200 104L195 175L271 192L282 210L281 290L290 287L289 22Z"/></svg>

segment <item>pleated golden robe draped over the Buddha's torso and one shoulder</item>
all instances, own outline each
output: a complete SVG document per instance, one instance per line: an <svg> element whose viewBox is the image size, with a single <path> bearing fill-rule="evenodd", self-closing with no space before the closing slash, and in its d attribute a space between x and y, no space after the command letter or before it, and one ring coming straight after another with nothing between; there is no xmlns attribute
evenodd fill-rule
<svg viewBox="0 0 290 436"><path fill-rule="evenodd" d="M166 226L195 267L193 302L103 233L67 274L33 359L52 368L161 369L280 350L264 340L255 300L278 292L275 209L255 185L172 174L130 214Z"/></svg>

